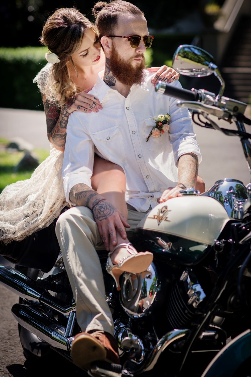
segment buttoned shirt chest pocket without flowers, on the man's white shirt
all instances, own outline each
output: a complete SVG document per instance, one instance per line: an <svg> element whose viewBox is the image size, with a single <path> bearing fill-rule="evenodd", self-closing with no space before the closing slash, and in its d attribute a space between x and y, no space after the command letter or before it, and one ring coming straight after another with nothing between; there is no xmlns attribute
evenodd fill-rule
<svg viewBox="0 0 251 377"><path fill-rule="evenodd" d="M92 133L97 149L107 160L121 162L126 158L123 138L119 126Z"/></svg>

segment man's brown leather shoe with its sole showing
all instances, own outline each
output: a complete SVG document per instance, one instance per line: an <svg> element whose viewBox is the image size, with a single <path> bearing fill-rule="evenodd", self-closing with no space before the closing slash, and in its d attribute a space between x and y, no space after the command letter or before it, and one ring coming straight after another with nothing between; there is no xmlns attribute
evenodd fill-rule
<svg viewBox="0 0 251 377"><path fill-rule="evenodd" d="M82 369L89 369L97 360L119 363L116 340L100 330L77 334L72 342L71 356L73 363Z"/></svg>

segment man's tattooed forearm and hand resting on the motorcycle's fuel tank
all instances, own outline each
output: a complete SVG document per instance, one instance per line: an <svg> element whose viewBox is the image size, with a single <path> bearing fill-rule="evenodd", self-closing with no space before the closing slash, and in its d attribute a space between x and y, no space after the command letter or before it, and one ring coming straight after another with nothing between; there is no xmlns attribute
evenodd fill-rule
<svg viewBox="0 0 251 377"><path fill-rule="evenodd" d="M180 190L196 186L198 177L198 157L194 153L186 153L178 159L178 183L176 187L168 187L159 201L165 202L170 198L180 196Z"/></svg>

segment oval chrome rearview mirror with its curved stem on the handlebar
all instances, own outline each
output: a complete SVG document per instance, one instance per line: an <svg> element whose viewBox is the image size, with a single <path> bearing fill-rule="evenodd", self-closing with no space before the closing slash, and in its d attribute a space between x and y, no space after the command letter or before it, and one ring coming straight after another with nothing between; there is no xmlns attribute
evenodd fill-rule
<svg viewBox="0 0 251 377"><path fill-rule="evenodd" d="M218 98L222 96L225 82L221 77L218 66L215 64L215 59L203 49L190 44L179 46L174 52L172 67L176 72L185 76L205 77L215 74L221 83Z"/></svg>

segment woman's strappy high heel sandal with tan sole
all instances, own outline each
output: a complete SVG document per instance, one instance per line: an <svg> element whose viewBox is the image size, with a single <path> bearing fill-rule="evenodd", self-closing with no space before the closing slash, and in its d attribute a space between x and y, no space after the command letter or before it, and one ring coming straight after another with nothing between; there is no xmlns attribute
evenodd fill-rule
<svg viewBox="0 0 251 377"><path fill-rule="evenodd" d="M120 259L118 265L112 264L110 256L112 255L114 250L121 247L126 247L126 250L131 255ZM153 254L150 253L150 251L141 251L140 253L137 253L137 250L133 247L131 242L129 242L128 244L116 245L113 251L110 251L108 253L106 271L110 275L112 275L113 279L115 280L117 291L120 291L121 289L119 285L119 276L123 272L132 272L135 274L141 273L143 271L146 271L151 262L153 262Z"/></svg>

